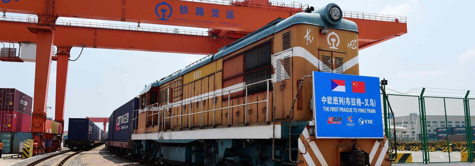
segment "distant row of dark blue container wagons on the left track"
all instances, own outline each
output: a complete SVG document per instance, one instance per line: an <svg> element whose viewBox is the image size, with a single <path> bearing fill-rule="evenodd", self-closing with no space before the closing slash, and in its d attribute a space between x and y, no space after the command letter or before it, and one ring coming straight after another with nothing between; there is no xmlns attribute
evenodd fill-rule
<svg viewBox="0 0 475 166"><path fill-rule="evenodd" d="M90 119L69 118L68 138L65 144L69 149L91 149L105 141L105 132Z"/></svg>

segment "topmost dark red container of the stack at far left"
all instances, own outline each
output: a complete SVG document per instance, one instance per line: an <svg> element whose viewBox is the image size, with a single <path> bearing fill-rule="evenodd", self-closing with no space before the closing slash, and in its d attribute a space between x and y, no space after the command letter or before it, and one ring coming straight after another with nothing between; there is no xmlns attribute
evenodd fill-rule
<svg viewBox="0 0 475 166"><path fill-rule="evenodd" d="M31 114L33 97L14 88L0 88L0 110L17 110Z"/></svg>

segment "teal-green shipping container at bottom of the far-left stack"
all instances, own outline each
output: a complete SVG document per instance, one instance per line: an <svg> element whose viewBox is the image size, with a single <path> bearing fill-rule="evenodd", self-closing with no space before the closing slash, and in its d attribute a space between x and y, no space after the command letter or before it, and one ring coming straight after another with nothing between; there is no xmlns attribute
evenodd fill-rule
<svg viewBox="0 0 475 166"><path fill-rule="evenodd" d="M2 154L19 154L24 140L31 140L31 132L0 132L0 140L3 143Z"/></svg>

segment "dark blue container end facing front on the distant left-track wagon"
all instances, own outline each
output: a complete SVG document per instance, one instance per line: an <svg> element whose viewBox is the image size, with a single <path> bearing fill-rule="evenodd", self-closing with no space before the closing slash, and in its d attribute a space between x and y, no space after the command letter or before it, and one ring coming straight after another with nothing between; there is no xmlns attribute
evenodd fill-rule
<svg viewBox="0 0 475 166"><path fill-rule="evenodd" d="M93 140L95 124L85 118L69 118L68 139L70 140Z"/></svg>

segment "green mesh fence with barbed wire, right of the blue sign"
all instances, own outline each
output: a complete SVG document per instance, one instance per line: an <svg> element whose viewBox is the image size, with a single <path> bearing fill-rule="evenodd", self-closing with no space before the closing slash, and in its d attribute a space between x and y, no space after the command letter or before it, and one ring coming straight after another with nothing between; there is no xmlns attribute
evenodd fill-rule
<svg viewBox="0 0 475 166"><path fill-rule="evenodd" d="M424 90L382 97L385 133L398 153L391 154L393 163L473 162L475 99L469 91L464 98L424 96Z"/></svg>

